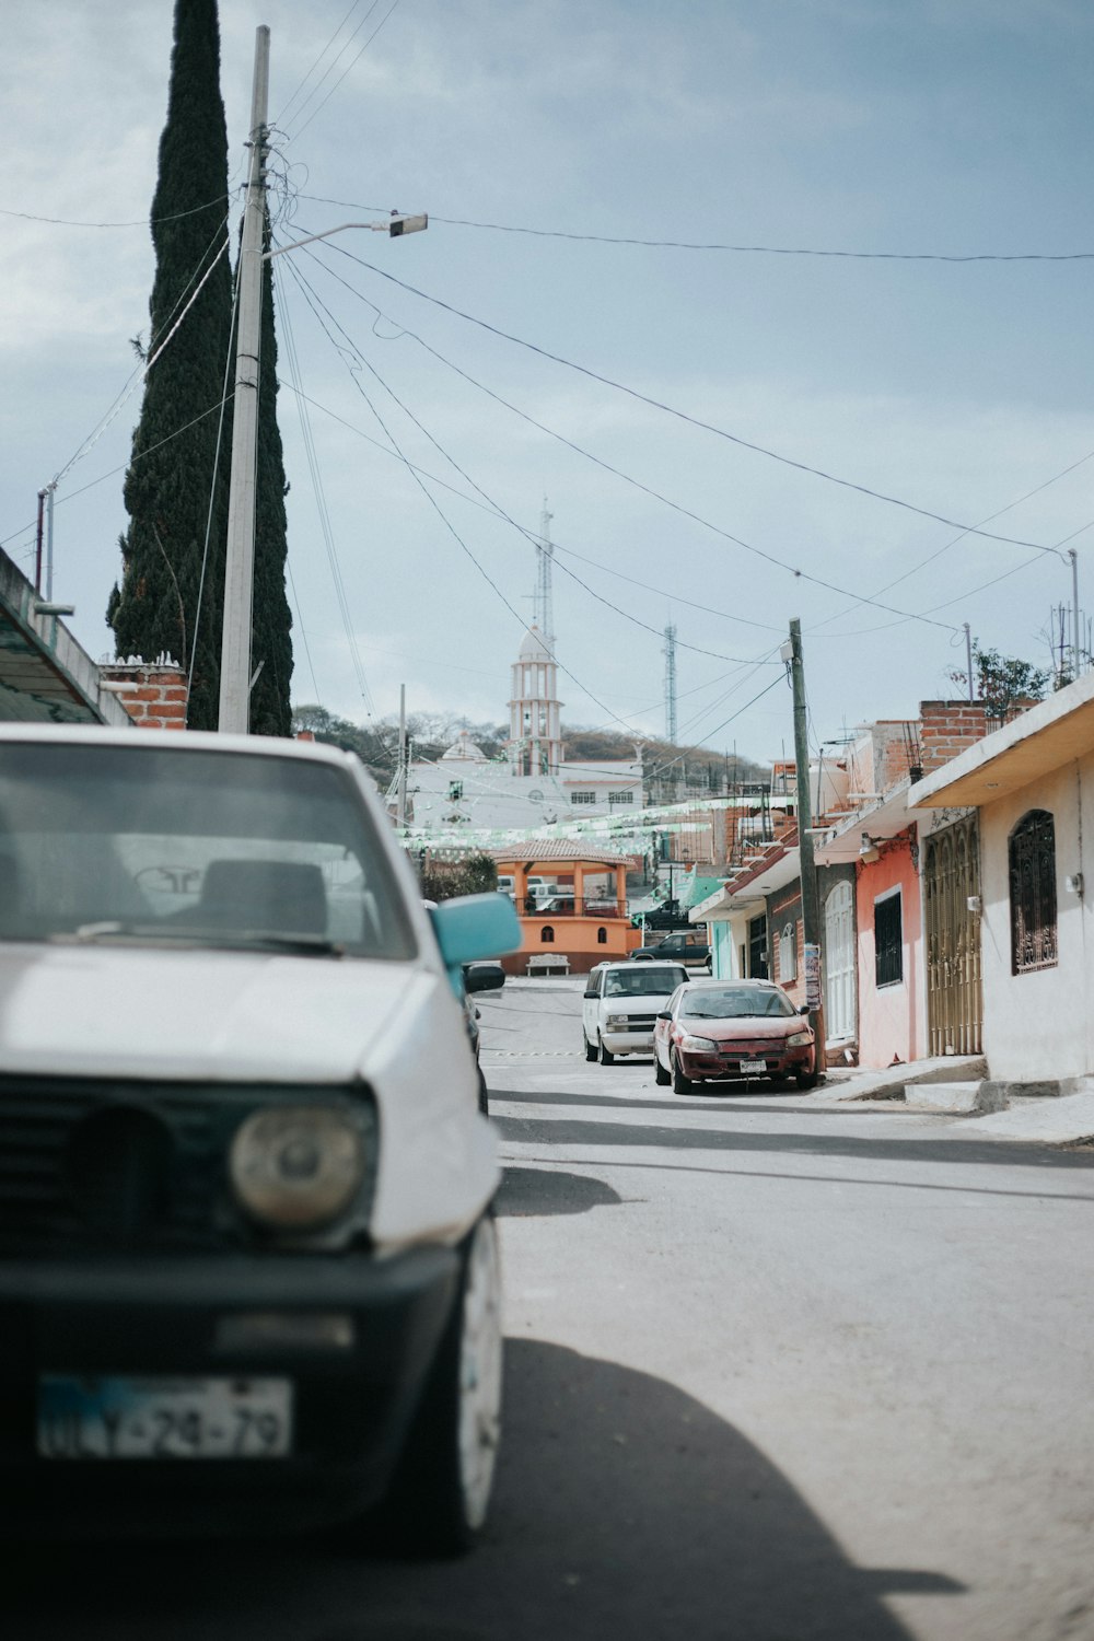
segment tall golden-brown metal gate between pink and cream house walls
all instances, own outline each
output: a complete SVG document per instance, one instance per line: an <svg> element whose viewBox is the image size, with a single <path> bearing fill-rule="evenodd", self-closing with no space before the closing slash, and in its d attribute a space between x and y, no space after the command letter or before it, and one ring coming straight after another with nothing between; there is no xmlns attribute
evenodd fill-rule
<svg viewBox="0 0 1094 1641"><path fill-rule="evenodd" d="M976 816L927 840L927 1034L932 1054L982 1052ZM969 901L973 906L969 906Z"/></svg>

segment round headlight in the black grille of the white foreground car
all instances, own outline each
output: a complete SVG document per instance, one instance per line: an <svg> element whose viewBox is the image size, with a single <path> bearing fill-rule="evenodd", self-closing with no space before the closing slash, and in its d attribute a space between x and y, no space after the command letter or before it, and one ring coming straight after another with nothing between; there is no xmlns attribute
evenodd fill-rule
<svg viewBox="0 0 1094 1641"><path fill-rule="evenodd" d="M239 1124L228 1172L253 1219L317 1231L346 1211L364 1178L364 1140L336 1106L267 1106Z"/></svg>

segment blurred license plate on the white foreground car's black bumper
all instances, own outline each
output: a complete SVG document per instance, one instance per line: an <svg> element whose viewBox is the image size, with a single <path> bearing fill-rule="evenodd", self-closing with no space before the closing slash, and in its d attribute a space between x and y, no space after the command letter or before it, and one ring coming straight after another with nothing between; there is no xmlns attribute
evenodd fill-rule
<svg viewBox="0 0 1094 1641"><path fill-rule="evenodd" d="M43 1459L284 1459L289 1378L38 1380Z"/></svg>

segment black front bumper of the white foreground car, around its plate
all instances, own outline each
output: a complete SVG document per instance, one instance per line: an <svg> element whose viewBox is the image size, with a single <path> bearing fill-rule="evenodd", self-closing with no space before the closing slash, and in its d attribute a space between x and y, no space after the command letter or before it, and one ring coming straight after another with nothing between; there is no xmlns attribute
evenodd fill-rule
<svg viewBox="0 0 1094 1641"><path fill-rule="evenodd" d="M0 1264L0 1487L21 1536L315 1526L390 1480L449 1316L459 1250ZM262 1318L258 1337L248 1318ZM338 1318L290 1341L299 1318ZM279 1328L279 1321L282 1326ZM335 1339L336 1334L336 1339ZM331 1339L335 1342L331 1342ZM39 1374L284 1377L284 1459L43 1459Z"/></svg>

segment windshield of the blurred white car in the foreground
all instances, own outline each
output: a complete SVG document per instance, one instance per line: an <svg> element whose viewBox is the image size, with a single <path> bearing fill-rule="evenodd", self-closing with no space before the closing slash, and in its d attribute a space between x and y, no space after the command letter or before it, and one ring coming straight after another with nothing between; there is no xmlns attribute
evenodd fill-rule
<svg viewBox="0 0 1094 1641"><path fill-rule="evenodd" d="M71 742L0 742L0 939L415 953L348 771Z"/></svg>

